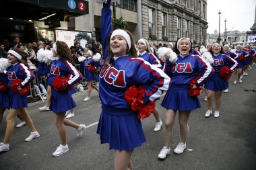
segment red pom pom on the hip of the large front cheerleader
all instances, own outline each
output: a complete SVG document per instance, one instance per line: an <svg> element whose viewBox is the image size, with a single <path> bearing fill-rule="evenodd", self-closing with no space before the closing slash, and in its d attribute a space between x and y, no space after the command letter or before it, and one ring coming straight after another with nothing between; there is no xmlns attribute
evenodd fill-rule
<svg viewBox="0 0 256 170"><path fill-rule="evenodd" d="M131 110L138 112L138 118L148 118L156 107L155 101L150 101L148 104L144 104L143 97L145 97L146 89L142 86L131 86L125 91L125 100L131 105Z"/></svg>

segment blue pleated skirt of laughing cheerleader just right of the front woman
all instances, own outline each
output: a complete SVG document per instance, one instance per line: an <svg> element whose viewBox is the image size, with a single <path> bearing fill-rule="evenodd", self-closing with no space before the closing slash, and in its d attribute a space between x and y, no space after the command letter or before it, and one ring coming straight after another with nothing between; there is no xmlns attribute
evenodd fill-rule
<svg viewBox="0 0 256 170"><path fill-rule="evenodd" d="M198 97L189 96L188 85L174 85L166 92L161 103L167 110L189 111L201 108Z"/></svg>

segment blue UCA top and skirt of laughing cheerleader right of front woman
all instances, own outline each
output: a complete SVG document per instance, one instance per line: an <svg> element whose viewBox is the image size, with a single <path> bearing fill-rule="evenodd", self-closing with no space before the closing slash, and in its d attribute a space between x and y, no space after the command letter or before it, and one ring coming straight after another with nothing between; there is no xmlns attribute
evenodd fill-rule
<svg viewBox="0 0 256 170"><path fill-rule="evenodd" d="M175 64L166 60L164 71L172 79L172 86L166 92L161 103L163 108L167 110L195 110L201 108L198 97L189 95L189 83L194 78L199 76L197 87L203 85L209 79L214 69L201 56L187 54L187 56L178 55L178 60Z"/></svg>

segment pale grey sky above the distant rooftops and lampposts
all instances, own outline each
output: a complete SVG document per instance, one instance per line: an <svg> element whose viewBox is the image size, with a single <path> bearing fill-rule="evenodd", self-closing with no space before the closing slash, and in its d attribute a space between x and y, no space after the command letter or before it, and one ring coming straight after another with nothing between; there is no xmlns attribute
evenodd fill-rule
<svg viewBox="0 0 256 170"><path fill-rule="evenodd" d="M220 32L224 32L226 19L227 30L251 31L254 24L256 0L207 0L207 33L214 34L219 30L220 10Z"/></svg>

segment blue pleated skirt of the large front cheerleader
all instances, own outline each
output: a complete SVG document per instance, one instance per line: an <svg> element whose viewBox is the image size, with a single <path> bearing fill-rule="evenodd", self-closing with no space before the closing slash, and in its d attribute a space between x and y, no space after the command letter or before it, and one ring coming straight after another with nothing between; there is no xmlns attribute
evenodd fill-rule
<svg viewBox="0 0 256 170"><path fill-rule="evenodd" d="M106 105L102 105L97 134L101 143L108 143L109 149L119 151L131 151L146 142L141 120L135 112Z"/></svg>

